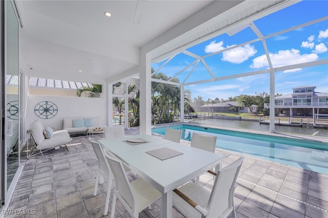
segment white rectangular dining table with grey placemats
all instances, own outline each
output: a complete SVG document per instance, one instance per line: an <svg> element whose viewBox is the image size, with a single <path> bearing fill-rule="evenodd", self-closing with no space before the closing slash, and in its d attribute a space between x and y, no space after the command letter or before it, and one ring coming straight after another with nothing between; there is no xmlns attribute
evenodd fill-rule
<svg viewBox="0 0 328 218"><path fill-rule="evenodd" d="M142 138L149 142L130 145L127 139ZM132 135L98 140L101 146L162 193L161 217L172 217L172 192L213 167L220 168L224 156L185 146L151 135ZM160 160L146 152L172 149L181 155Z"/></svg>

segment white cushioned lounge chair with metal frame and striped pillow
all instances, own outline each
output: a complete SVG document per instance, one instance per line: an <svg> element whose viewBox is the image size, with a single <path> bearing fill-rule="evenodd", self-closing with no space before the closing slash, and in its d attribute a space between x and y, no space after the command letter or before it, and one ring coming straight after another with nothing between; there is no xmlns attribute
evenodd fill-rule
<svg viewBox="0 0 328 218"><path fill-rule="evenodd" d="M35 120L30 125L30 144L27 144L27 158L31 156L42 154L51 149L57 149L59 146L66 145L68 151L68 144L73 140L67 131L59 130L54 131L51 138L46 138L44 134L45 128L43 127L41 121L39 119ZM30 145L30 148L29 148ZM37 153L38 151L38 153Z"/></svg>

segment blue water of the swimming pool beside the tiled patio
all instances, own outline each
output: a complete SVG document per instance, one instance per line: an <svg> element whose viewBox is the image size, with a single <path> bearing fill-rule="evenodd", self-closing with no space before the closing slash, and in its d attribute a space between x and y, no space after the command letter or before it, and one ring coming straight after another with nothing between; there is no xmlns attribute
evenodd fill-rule
<svg viewBox="0 0 328 218"><path fill-rule="evenodd" d="M192 133L216 135L216 147L328 174L328 143L252 134L190 125L170 126L182 130L181 139L191 141ZM164 135L166 127L153 128Z"/></svg>

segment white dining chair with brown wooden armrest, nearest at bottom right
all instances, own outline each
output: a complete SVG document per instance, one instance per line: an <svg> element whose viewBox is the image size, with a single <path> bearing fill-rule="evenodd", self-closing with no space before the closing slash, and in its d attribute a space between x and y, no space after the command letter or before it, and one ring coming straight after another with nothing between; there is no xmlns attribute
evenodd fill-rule
<svg viewBox="0 0 328 218"><path fill-rule="evenodd" d="M236 217L234 192L238 184L236 180L243 157L228 166L219 169L216 179L209 192L202 186L189 182L173 190L173 206L185 217L210 218Z"/></svg>

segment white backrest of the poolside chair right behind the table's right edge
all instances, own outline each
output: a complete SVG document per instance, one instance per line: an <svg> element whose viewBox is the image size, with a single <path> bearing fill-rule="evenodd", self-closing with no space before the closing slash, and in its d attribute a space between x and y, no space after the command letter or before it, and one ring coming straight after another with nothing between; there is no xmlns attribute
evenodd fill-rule
<svg viewBox="0 0 328 218"><path fill-rule="evenodd" d="M214 153L216 146L216 136L193 133L190 146Z"/></svg>

